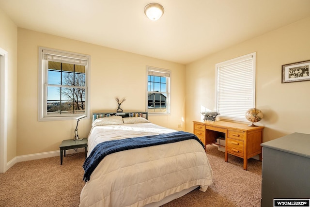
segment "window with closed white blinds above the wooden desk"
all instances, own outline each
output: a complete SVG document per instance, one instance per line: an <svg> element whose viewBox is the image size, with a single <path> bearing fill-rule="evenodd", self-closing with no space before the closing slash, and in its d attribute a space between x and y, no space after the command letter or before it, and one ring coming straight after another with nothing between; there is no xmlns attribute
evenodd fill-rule
<svg viewBox="0 0 310 207"><path fill-rule="evenodd" d="M220 118L244 121L246 111L255 106L255 59L254 52L216 64Z"/></svg>

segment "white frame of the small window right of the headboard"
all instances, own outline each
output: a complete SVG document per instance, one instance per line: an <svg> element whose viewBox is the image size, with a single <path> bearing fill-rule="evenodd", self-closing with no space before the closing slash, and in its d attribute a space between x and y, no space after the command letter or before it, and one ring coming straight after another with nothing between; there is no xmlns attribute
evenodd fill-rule
<svg viewBox="0 0 310 207"><path fill-rule="evenodd" d="M160 75L164 75L164 76L160 76ZM163 92L165 94L167 94L166 97L166 111L161 112L155 112L155 111L149 111L149 107L148 107L148 94L149 93L154 93L154 91L149 91L149 75L151 76L159 76L159 77L165 77L166 78L166 92ZM170 100L171 100L171 92L170 92L170 88L171 88L171 70L167 70L167 69L162 69L162 68L156 68L156 67L152 67L152 66L146 66L146 110L148 111L148 114L170 114ZM156 93L156 92L155 92ZM161 94L160 92L158 92L158 94Z"/></svg>

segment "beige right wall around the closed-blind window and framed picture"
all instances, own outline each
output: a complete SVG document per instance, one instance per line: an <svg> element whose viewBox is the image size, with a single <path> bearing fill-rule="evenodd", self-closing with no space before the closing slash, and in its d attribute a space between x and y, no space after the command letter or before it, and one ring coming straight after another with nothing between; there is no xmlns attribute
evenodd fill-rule
<svg viewBox="0 0 310 207"><path fill-rule="evenodd" d="M310 133L310 81L281 83L281 65L310 60L310 17L186 65L186 130L201 107L215 109L215 64L256 52L256 108L263 141Z"/></svg>

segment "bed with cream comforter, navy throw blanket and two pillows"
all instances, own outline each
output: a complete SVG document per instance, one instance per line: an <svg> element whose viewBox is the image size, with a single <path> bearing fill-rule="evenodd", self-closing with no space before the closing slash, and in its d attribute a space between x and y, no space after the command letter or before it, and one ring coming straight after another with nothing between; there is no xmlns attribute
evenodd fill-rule
<svg viewBox="0 0 310 207"><path fill-rule="evenodd" d="M191 138L183 141L116 150L110 154L100 151L110 151L109 147L117 148L124 141L165 140L158 136L170 140L183 133L149 122L147 112L130 114L134 117L125 117L127 113L107 117L107 114L93 114L80 207L156 207L196 188L206 191L212 184L213 173L203 144L192 138L193 134L185 132L180 137ZM99 154L103 158L97 160Z"/></svg>

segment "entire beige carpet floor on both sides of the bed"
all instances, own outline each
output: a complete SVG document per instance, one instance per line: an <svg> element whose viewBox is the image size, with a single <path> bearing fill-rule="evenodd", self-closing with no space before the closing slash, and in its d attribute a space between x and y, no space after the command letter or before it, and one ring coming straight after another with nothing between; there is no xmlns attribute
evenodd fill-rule
<svg viewBox="0 0 310 207"><path fill-rule="evenodd" d="M262 162L229 156L207 146L214 180L206 192L194 190L164 207L260 207ZM84 153L16 163L0 174L0 207L78 207L84 186Z"/></svg>

